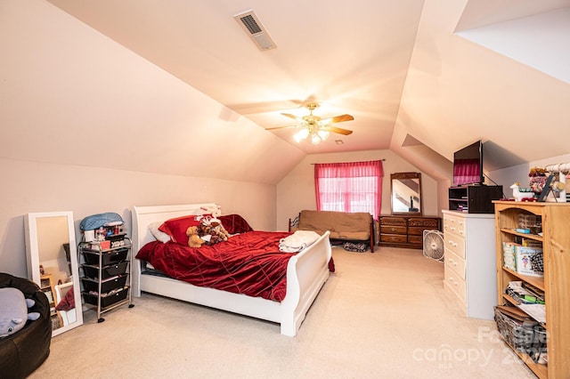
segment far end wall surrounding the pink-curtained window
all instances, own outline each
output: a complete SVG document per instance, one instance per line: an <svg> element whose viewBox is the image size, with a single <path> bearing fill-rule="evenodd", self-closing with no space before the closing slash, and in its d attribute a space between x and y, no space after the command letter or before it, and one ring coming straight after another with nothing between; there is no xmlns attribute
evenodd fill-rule
<svg viewBox="0 0 570 379"><path fill-rule="evenodd" d="M382 181L382 209L380 213L391 214L390 173L421 173L417 167L398 157L390 150L314 154L306 156L277 185L277 230L287 230L289 218L297 217L301 210L316 209L313 164L377 159L386 159L382 162L384 179ZM422 173L421 189L422 198L424 199L423 214L441 214L439 212L441 206L438 205L437 182L426 173Z"/></svg>

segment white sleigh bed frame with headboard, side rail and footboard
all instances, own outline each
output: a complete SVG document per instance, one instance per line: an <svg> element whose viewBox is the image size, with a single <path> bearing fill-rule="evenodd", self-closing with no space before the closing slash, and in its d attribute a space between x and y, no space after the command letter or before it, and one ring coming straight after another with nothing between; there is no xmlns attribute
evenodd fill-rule
<svg viewBox="0 0 570 379"><path fill-rule="evenodd" d="M173 278L142 274L142 261L134 259L134 256L142 246L155 239L148 228L149 224L165 222L184 215L203 214L204 208L212 209L213 207L216 207L216 204L133 206L132 286L134 296L140 297L141 292L148 292L265 319L281 324L281 335L297 335L297 330L305 319L306 312L329 278L331 249L328 231L313 245L289 260L287 294L282 302L193 286Z"/></svg>

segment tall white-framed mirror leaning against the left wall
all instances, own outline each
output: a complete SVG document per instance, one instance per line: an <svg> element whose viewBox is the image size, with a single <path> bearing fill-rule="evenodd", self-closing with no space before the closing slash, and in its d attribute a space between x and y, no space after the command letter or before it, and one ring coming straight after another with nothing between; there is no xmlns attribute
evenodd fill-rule
<svg viewBox="0 0 570 379"><path fill-rule="evenodd" d="M28 278L50 302L52 336L83 324L73 213L28 214Z"/></svg>

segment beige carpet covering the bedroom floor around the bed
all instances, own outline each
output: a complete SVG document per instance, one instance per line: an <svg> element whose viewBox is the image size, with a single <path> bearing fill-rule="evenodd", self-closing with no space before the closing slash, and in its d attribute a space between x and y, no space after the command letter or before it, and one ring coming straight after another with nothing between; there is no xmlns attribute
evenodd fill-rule
<svg viewBox="0 0 570 379"><path fill-rule="evenodd" d="M297 337L279 326L143 294L53 338L32 378L533 378L493 321L466 319L443 263L419 250L333 249L337 273Z"/></svg>

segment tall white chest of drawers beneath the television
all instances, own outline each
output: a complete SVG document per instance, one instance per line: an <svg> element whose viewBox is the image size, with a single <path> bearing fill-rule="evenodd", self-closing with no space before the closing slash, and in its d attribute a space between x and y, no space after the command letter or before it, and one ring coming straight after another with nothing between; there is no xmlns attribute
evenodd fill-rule
<svg viewBox="0 0 570 379"><path fill-rule="evenodd" d="M497 305L494 214L444 214L444 288L469 318L493 319Z"/></svg>

